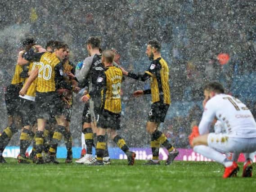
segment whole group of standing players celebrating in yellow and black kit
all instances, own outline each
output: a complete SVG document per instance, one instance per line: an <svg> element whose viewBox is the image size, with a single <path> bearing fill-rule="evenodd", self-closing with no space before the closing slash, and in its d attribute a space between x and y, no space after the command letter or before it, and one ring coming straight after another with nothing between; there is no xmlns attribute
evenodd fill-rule
<svg viewBox="0 0 256 192"><path fill-rule="evenodd" d="M146 54L152 63L143 75L125 71L114 62L115 52L101 50L99 37L86 41L89 57L75 67L69 61L68 45L61 41L49 41L44 48L27 38L18 54L13 80L5 93L8 111L8 127L0 136L0 162L13 134L20 135L19 163L58 163L57 146L64 136L67 147L66 162L72 162L72 135L69 129L72 93L85 88L81 101L85 103L82 114L82 133L86 143L86 155L77 163L89 165L110 164L108 136L126 154L128 165L134 165L135 152L131 152L125 140L117 134L121 129L121 84L123 76L136 80L151 78L151 89L135 91L134 96L152 94L152 107L148 114L147 131L151 134L153 159L146 165L159 165L159 147L169 152L166 165L170 165L179 152L157 128L164 121L171 103L169 68L161 57L161 45L150 40ZM36 121L37 120L37 121ZM27 147L33 141L33 149L26 156ZM92 155L95 147L96 155ZM45 156L43 155L45 153ZM104 160L104 161L103 161Z"/></svg>

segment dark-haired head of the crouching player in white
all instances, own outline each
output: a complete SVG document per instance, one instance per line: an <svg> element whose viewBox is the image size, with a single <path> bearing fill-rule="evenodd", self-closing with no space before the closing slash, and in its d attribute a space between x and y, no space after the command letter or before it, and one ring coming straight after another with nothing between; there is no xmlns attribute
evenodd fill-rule
<svg viewBox="0 0 256 192"><path fill-rule="evenodd" d="M207 83L204 88L204 97L205 101L208 101L210 98L214 97L216 94L224 94L225 89L222 84L219 82L210 82Z"/></svg>

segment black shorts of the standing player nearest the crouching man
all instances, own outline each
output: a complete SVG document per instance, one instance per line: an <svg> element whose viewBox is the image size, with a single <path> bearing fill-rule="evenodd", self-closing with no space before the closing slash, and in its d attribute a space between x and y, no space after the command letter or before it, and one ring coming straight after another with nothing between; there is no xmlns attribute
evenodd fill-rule
<svg viewBox="0 0 256 192"><path fill-rule="evenodd" d="M160 102L152 103L148 113L148 121L155 123L164 122L169 106L168 104Z"/></svg>

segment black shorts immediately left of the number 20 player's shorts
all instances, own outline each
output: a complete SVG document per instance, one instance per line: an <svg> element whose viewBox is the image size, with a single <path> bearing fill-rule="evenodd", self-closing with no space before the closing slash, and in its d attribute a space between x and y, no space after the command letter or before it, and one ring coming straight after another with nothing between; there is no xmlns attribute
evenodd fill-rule
<svg viewBox="0 0 256 192"><path fill-rule="evenodd" d="M23 125L35 125L36 123L36 102L22 98L22 106L20 109L22 113Z"/></svg>

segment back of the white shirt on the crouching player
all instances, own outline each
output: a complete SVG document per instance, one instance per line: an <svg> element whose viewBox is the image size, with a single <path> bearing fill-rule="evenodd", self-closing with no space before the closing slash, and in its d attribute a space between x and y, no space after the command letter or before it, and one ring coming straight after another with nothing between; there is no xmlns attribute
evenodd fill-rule
<svg viewBox="0 0 256 192"><path fill-rule="evenodd" d="M252 112L239 99L227 94L217 94L208 102L207 107L211 107L206 110L213 108L227 134L241 138L256 137L256 122Z"/></svg>

